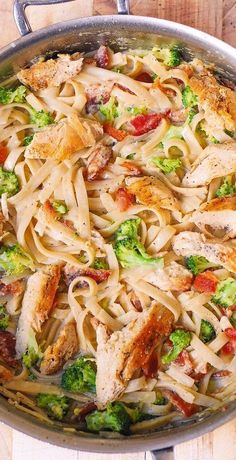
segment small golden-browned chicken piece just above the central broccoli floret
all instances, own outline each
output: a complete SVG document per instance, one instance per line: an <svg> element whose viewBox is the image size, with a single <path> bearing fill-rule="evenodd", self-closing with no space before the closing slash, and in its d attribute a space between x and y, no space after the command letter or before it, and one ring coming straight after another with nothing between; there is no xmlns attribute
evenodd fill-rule
<svg viewBox="0 0 236 460"><path fill-rule="evenodd" d="M135 195L140 203L155 209L179 210L178 200L172 191L156 177L144 176L127 182L128 192Z"/></svg>

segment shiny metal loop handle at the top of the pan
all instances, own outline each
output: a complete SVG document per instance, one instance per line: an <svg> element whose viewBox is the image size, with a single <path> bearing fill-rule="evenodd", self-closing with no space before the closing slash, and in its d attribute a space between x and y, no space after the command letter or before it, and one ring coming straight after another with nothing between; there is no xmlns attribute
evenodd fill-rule
<svg viewBox="0 0 236 460"><path fill-rule="evenodd" d="M56 3L73 2L74 0L14 0L13 14L17 28L21 35L32 32L25 10L27 6L53 5ZM129 14L129 0L117 0L117 13Z"/></svg>

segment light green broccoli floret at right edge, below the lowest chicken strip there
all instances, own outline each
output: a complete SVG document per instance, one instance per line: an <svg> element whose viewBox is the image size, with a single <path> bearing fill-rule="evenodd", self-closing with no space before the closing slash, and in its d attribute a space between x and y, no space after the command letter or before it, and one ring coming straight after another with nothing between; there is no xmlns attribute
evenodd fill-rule
<svg viewBox="0 0 236 460"><path fill-rule="evenodd" d="M236 303L236 280L227 278L220 281L217 285L212 301L221 307L231 307Z"/></svg>

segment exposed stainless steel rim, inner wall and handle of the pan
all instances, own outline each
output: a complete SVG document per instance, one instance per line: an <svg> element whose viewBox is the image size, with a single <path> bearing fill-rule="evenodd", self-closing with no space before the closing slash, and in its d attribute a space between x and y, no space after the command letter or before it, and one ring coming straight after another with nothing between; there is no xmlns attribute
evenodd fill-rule
<svg viewBox="0 0 236 460"><path fill-rule="evenodd" d="M59 51L91 51L105 43L115 50L176 43L182 48L186 59L197 56L215 63L219 73L236 80L234 48L208 34L165 20L124 14L100 16L63 22L29 34L30 25L24 16L26 6L57 2L58 0L15 2L15 5L20 6L18 10L15 8L18 27L26 35L0 51L0 80L15 74L20 67L28 65L41 55L53 56ZM1 399L0 404L0 420L30 436L61 447L110 453L164 449L211 431L235 415L236 403L233 403L217 413L200 414L180 424L163 427L155 433L109 438L109 435L101 437L90 433L64 433L54 427L42 425L27 414L17 412L4 399Z"/></svg>

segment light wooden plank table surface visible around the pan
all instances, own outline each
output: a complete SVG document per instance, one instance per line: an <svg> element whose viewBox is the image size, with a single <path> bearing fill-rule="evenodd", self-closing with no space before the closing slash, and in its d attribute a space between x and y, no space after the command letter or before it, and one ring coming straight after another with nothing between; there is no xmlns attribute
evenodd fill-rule
<svg viewBox="0 0 236 460"><path fill-rule="evenodd" d="M0 46L18 37L12 16L12 0L0 0ZM110 14L114 0L75 0L57 6L30 7L33 29L60 20ZM223 38L236 46L235 0L131 0L131 12L181 22ZM0 460L150 460L149 454L103 455L56 448L0 424ZM175 460L235 460L236 421L193 441L175 447Z"/></svg>

